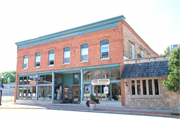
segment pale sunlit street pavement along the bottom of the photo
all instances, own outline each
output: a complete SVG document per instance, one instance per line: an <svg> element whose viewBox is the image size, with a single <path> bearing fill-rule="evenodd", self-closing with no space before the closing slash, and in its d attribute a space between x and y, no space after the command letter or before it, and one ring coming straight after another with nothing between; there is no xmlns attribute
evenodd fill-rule
<svg viewBox="0 0 180 120"><path fill-rule="evenodd" d="M47 109L1 109L0 120L172 120L177 118Z"/></svg>

